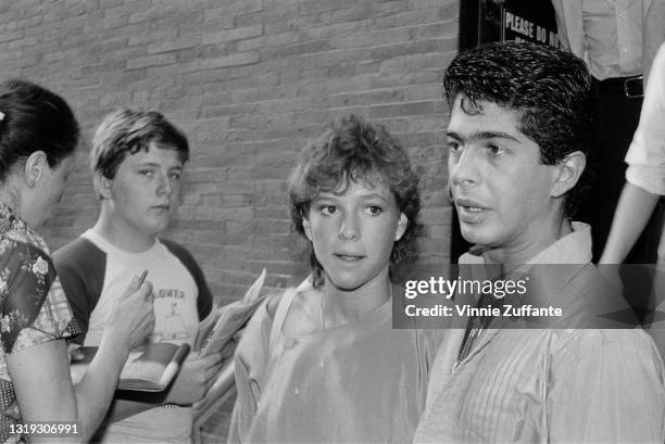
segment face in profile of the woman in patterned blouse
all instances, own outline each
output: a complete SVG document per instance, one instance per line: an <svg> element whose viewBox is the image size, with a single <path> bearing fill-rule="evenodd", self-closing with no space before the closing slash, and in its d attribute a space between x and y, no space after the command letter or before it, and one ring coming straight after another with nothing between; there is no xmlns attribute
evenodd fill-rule
<svg viewBox="0 0 665 444"><path fill-rule="evenodd" d="M32 227L40 227L49 217L51 210L60 202L64 187L74 170L74 155L63 158L51 168L46 162L42 174L32 189L32 195L25 200L21 208L21 217Z"/></svg>

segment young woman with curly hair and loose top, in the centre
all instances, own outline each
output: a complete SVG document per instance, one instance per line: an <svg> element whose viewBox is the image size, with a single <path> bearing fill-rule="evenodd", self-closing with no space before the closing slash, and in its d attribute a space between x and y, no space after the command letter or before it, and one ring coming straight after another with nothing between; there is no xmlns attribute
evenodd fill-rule
<svg viewBox="0 0 665 444"><path fill-rule="evenodd" d="M392 329L392 268L415 256L417 185L400 143L356 116L302 151L289 195L312 274L250 320L229 441L411 442L441 335Z"/></svg>

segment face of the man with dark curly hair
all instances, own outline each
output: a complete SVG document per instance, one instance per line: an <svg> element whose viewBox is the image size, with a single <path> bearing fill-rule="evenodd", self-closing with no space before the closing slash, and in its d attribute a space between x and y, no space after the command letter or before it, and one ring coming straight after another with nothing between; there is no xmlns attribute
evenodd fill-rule
<svg viewBox="0 0 665 444"><path fill-rule="evenodd" d="M551 196L556 168L540 163L538 145L518 129L518 112L480 101L472 115L463 101L469 109L468 99L457 96L447 131L450 188L462 236L472 243L526 252L557 217L561 202Z"/></svg>

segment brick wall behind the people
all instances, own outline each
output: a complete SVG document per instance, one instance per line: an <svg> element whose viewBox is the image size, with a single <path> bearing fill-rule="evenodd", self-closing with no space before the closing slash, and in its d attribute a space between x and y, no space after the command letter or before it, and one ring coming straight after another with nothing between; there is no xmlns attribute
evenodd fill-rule
<svg viewBox="0 0 665 444"><path fill-rule="evenodd" d="M269 287L304 276L285 178L306 138L350 112L407 148L422 176L422 262L449 262L441 77L457 9L456 0L12 0L0 4L0 73L64 96L84 128L81 151L116 106L158 109L186 130L192 155L168 236L191 250L224 303L264 266ZM97 208L81 152L47 226L50 244L90 227Z"/></svg>

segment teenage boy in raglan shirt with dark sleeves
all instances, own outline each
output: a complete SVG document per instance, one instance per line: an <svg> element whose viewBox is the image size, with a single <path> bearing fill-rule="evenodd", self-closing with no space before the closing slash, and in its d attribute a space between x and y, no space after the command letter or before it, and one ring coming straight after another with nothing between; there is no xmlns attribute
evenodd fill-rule
<svg viewBox="0 0 665 444"><path fill-rule="evenodd" d="M195 258L158 238L171 221L189 156L185 135L156 112L121 110L98 128L91 151L95 188L101 201L97 224L54 254L84 345L99 345L125 282L148 270L153 282L152 342L188 343L213 321L213 299ZM191 403L203 396L221 356L192 351L159 405L116 399L113 421L98 432L104 442L189 442ZM146 411L143 411L146 410ZM127 417L129 414L131 416Z"/></svg>

